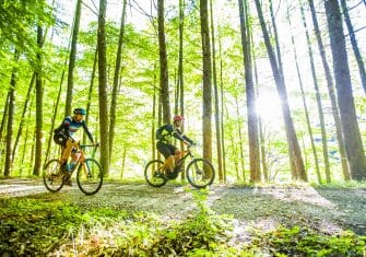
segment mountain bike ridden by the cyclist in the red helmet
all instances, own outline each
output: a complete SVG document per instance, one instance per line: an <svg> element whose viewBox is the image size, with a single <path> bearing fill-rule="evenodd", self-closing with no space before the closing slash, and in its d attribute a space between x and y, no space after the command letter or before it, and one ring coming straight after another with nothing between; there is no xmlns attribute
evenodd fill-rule
<svg viewBox="0 0 366 257"><path fill-rule="evenodd" d="M196 188L204 188L211 185L215 178L213 165L205 159L196 159L191 152L192 147L188 147L182 151L182 155L177 162L173 172L164 171L164 162L162 160L150 161L144 170L144 176L150 186L162 187L168 180L176 179L180 172L184 172L184 163L190 157L186 168L188 182Z"/></svg>

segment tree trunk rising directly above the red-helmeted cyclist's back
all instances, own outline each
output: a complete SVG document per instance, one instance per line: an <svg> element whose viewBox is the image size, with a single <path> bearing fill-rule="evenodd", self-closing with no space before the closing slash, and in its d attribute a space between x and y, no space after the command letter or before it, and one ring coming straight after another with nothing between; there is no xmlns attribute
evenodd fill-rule
<svg viewBox="0 0 366 257"><path fill-rule="evenodd" d="M170 102L169 102L169 80L168 60L165 44L164 30L164 0L157 0L157 31L158 31L158 52L161 61L161 100L163 105L163 122L170 122Z"/></svg>

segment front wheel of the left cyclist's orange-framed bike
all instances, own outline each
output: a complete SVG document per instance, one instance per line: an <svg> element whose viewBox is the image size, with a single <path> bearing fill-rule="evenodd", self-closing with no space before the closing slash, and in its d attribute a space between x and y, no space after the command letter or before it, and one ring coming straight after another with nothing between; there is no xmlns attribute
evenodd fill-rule
<svg viewBox="0 0 366 257"><path fill-rule="evenodd" d="M103 185L99 163L94 159L85 159L85 162L78 168L76 182L80 190L86 196L97 194Z"/></svg>

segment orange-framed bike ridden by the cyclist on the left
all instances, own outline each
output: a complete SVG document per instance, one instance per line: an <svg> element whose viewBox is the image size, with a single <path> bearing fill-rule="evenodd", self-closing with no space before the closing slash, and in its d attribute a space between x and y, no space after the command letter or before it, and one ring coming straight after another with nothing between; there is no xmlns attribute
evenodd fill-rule
<svg viewBox="0 0 366 257"><path fill-rule="evenodd" d="M85 148L94 148L93 156L98 144L79 144L71 151L71 163L67 164L68 172L61 171L60 160L50 160L44 167L44 184L51 192L61 190L64 183L70 179L74 171L80 190L86 196L98 192L103 185L103 171L99 163L92 157L85 157Z"/></svg>

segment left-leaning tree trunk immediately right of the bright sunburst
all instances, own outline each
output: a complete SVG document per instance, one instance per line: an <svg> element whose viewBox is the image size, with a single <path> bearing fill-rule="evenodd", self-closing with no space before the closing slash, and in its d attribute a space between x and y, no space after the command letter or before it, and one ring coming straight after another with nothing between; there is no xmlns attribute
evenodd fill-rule
<svg viewBox="0 0 366 257"><path fill-rule="evenodd" d="M270 62L271 62L271 67L272 67L275 85L276 85L278 93L279 93L279 96L282 103L281 108L282 108L282 114L283 114L284 124L285 124L286 138L288 142L288 153L290 153L290 161L291 161L291 167L292 167L292 175L294 179L300 179L300 180L307 182L308 178L307 178L307 174L304 167L302 152L299 149L295 127L294 127L291 113L290 113L287 91L286 91L284 78L282 77L282 72L280 71L278 67L278 61L275 59L272 45L270 43L270 37L269 37L269 34L265 27L264 17L263 17L263 13L262 13L259 0L256 0L256 5L257 5L258 15L260 19L260 25L261 25L263 36L264 36L264 44L265 44L268 55L270 58Z"/></svg>

